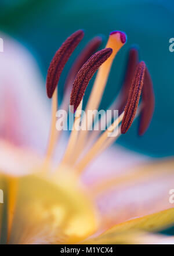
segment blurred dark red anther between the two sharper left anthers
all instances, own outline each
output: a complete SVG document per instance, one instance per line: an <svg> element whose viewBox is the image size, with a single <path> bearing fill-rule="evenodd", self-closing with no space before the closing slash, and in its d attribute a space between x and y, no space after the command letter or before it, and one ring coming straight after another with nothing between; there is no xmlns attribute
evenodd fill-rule
<svg viewBox="0 0 174 256"><path fill-rule="evenodd" d="M67 90L68 87L71 87L71 85L73 86L73 82L78 71L81 69L84 63L88 61L90 56L92 56L92 54L95 53L95 51L97 50L97 48L99 48L101 43L102 43L102 37L93 38L88 42L86 47L78 55L77 59L75 60L73 66L70 69L70 72L68 73L66 83L64 86L65 91Z"/></svg>

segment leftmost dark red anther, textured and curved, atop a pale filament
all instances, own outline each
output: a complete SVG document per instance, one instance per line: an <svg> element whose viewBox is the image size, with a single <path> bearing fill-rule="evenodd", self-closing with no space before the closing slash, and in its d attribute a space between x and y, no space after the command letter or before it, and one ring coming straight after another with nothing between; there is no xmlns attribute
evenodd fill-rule
<svg viewBox="0 0 174 256"><path fill-rule="evenodd" d="M84 31L82 30L71 34L53 57L46 78L46 91L49 98L52 98L64 65L66 65L66 62L83 37Z"/></svg>

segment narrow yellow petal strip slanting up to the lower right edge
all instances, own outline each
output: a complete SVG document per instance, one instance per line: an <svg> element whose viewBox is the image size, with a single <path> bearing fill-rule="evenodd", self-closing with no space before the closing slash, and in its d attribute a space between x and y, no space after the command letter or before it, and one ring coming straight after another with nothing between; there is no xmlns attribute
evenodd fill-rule
<svg viewBox="0 0 174 256"><path fill-rule="evenodd" d="M115 225L111 229L107 230L100 236L87 240L86 243L89 244L114 244L118 243L124 239L126 243L132 243L133 238L131 232L156 232L162 230L168 226L174 224L174 208L167 209L157 214L151 214L144 216L142 218L132 219ZM130 232L130 233L128 233ZM136 236L137 237L137 236ZM128 241L129 240L129 241ZM143 240L142 240L143 241Z"/></svg>

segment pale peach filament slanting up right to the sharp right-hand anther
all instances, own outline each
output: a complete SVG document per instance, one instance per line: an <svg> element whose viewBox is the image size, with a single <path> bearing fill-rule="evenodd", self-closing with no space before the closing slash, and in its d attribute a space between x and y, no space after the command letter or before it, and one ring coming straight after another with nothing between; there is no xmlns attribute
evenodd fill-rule
<svg viewBox="0 0 174 256"><path fill-rule="evenodd" d="M123 116L124 116L124 112L122 112L122 114L117 119L114 120L114 122L110 125L110 127L108 127L106 131L104 131L104 133L99 137L99 139L96 141L93 147L86 153L85 157L82 158L82 160L75 166L75 169L77 169L78 173L82 172L82 170L88 165L88 163L92 161L93 158L96 157L101 147L108 139L108 132L111 133L115 130L115 128L122 121ZM119 133L118 133L118 136L119 136Z"/></svg>

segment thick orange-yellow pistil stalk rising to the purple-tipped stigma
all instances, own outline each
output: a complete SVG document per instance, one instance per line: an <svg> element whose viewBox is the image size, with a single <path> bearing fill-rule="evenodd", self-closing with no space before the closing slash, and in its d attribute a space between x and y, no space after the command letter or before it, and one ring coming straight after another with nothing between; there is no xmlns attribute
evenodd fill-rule
<svg viewBox="0 0 174 256"><path fill-rule="evenodd" d="M86 110L85 110L86 113L89 109L90 110L98 109L100 101L103 96L104 88L106 87L108 74L110 73L111 65L113 63L115 55L117 54L117 52L123 45L124 44L121 41L119 33L111 34L110 37L108 38L106 48L112 48L113 53L107 59L107 61L103 63L103 65L99 68L99 71L97 72L96 80L93 85L88 104L86 106ZM86 115L86 117L87 117L87 115ZM85 121L84 118L82 119L82 125ZM86 123L88 123L87 120L86 120ZM88 125L90 126L92 124L88 123ZM86 141L87 135L88 135L88 129L86 129L85 131L81 130L81 132L79 133L78 151L77 151L77 154L74 156L76 159L77 159L77 155L79 154L79 152L82 151L82 148L84 147L84 143Z"/></svg>

